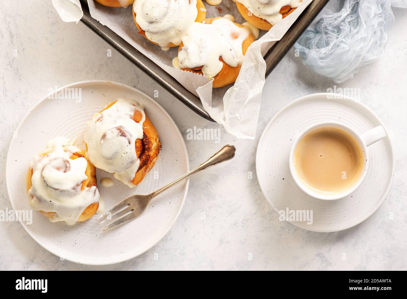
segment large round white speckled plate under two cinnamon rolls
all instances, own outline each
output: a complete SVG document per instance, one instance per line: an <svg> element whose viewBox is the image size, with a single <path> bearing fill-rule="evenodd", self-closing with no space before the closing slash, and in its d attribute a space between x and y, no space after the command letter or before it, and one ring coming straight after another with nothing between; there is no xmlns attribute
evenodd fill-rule
<svg viewBox="0 0 407 299"><path fill-rule="evenodd" d="M83 81L62 87L81 88L81 101L44 98L24 117L9 147L6 164L7 191L14 210L31 210L26 194L26 171L32 157L43 151L46 142L60 135L82 136L85 123L107 103L117 98L133 98L144 104L162 142L160 157L139 186L132 189L114 179L114 186L98 184L109 209L132 194L148 194L189 171L188 153L179 129L168 113L139 90L110 81ZM79 89L77 89L79 91ZM81 137L82 138L82 137ZM113 176L97 170L99 180ZM171 228L184 204L188 181L179 183L154 199L136 220L101 232L93 218L67 226L51 223L33 212L33 223L21 222L42 247L59 257L82 264L114 264L129 260L153 247Z"/></svg>

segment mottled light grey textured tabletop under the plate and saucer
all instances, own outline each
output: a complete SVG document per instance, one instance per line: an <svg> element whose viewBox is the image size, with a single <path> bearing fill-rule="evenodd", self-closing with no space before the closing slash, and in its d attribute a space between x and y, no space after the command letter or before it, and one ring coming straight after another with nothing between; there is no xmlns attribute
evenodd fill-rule
<svg viewBox="0 0 407 299"><path fill-rule="evenodd" d="M186 108L83 24L63 23L50 1L13 1L0 11L0 210L11 205L5 161L15 128L49 88L105 79L153 96L183 133L191 167L223 144L236 157L190 180L177 222L155 247L138 258L110 266L61 261L37 244L18 222L0 222L1 270L406 270L407 269L407 11L395 10L385 56L337 87L360 88L368 105L391 131L396 175L383 205L368 220L346 231L315 233L280 222L256 178L256 145L265 125L300 96L326 92L333 83L313 74L293 50L267 78L256 140L236 140L221 126ZM69 125L69 124L67 124ZM187 129L219 128L220 142L187 140ZM252 176L250 175L252 174ZM346 255L346 259L343 257Z"/></svg>

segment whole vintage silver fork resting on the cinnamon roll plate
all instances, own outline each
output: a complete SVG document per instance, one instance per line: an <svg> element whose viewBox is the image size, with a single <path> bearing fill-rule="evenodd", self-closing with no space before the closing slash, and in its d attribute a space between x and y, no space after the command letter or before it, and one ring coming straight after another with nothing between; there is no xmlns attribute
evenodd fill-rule
<svg viewBox="0 0 407 299"><path fill-rule="evenodd" d="M157 196L161 192L164 192L168 188L171 188L172 186L176 185L180 181L183 181L184 179L190 177L191 175L194 175L195 173L197 173L201 170L204 170L210 166L214 166L216 164L222 163L226 160L232 159L234 157L235 151L236 151L235 146L226 144L216 154L214 154L204 163L197 166L197 168L191 170L190 172L183 175L182 177L179 177L175 181L169 183L168 185L166 185L148 195L132 195L130 197L127 197L127 199L120 201L120 203L118 203L117 205L112 207L112 209L110 209L109 211L105 212L104 214L101 214L98 218L96 218L96 220L106 217L105 220L103 220L103 221L101 221L101 223L99 223L99 225L100 225L100 224L106 223L109 220L117 218L118 216L127 214L126 216L123 216L123 217L115 220L114 222L110 223L109 225L106 225L106 227L103 229L103 231L107 231L108 229L111 229L113 227L127 223L133 219L136 219L138 216L143 214L143 212L149 206L151 199L153 199L155 196ZM125 209L123 209L124 207L125 207ZM123 209L123 210L120 210L120 209ZM116 212L116 211L118 211L118 212ZM112 215L114 212L116 212L116 214Z"/></svg>

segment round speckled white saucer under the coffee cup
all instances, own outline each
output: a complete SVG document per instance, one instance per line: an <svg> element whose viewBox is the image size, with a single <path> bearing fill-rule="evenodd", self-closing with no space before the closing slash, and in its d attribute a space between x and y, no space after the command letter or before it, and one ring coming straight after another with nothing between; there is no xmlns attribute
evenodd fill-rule
<svg viewBox="0 0 407 299"><path fill-rule="evenodd" d="M368 107L339 94L311 94L282 108L267 124L257 147L256 171L260 188L271 206L281 210L312 210L313 223L290 221L311 231L340 231L367 219L381 205L394 176L394 153L389 134L368 147L370 165L361 186L334 201L305 194L289 171L289 153L295 136L316 122L336 121L364 133L381 120ZM386 130L386 129L385 129Z"/></svg>

